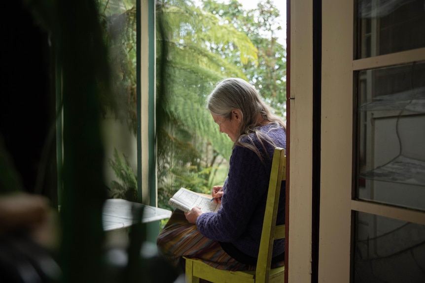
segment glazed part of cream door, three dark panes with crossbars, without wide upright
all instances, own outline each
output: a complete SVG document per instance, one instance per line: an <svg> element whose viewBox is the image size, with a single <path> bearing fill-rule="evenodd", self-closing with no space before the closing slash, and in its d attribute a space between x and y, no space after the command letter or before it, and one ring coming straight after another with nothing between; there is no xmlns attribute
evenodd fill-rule
<svg viewBox="0 0 425 283"><path fill-rule="evenodd" d="M354 210L352 280L425 282L424 1L356 8L354 200L372 211Z"/></svg>

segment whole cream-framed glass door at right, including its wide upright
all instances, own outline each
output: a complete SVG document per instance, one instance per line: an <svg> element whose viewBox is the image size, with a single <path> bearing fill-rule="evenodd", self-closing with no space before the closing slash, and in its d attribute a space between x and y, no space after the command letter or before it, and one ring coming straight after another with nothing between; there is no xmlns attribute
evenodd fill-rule
<svg viewBox="0 0 425 283"><path fill-rule="evenodd" d="M321 4L318 281L425 282L424 0Z"/></svg>

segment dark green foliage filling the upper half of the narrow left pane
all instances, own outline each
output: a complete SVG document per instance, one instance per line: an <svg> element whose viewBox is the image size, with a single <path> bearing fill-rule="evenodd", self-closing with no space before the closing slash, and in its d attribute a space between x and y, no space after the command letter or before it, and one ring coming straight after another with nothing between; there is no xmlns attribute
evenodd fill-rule
<svg viewBox="0 0 425 283"><path fill-rule="evenodd" d="M100 23L108 48L112 95L101 93L102 114L107 110L115 119L137 133L136 77L136 2L135 0L99 0Z"/></svg>

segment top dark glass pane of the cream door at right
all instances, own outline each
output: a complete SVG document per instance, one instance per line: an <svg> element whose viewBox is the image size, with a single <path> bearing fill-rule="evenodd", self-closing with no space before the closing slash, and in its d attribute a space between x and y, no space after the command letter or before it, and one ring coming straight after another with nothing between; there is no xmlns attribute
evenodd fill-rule
<svg viewBox="0 0 425 283"><path fill-rule="evenodd" d="M425 46L423 0L357 0L357 17L357 58Z"/></svg>

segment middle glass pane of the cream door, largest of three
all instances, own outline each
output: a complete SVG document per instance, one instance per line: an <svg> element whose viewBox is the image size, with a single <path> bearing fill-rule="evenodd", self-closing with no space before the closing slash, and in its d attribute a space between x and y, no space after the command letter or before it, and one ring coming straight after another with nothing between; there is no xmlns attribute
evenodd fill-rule
<svg viewBox="0 0 425 283"><path fill-rule="evenodd" d="M425 63L358 74L356 197L425 210Z"/></svg>

